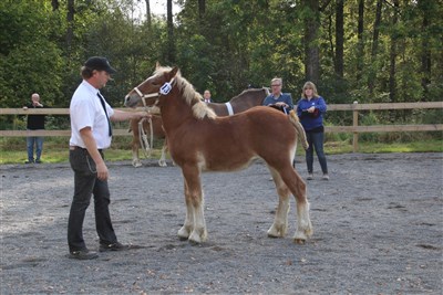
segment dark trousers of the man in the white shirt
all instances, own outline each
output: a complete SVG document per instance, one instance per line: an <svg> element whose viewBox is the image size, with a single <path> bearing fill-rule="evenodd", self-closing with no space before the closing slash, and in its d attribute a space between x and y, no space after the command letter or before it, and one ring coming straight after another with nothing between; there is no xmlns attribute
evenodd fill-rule
<svg viewBox="0 0 443 295"><path fill-rule="evenodd" d="M103 157L102 152L101 155ZM83 240L83 220L92 194L94 194L95 228L100 243L115 243L117 238L109 211L111 200L107 181L97 179L95 162L86 149L71 149L70 164L74 170L74 197L68 221L70 251L86 249Z"/></svg>

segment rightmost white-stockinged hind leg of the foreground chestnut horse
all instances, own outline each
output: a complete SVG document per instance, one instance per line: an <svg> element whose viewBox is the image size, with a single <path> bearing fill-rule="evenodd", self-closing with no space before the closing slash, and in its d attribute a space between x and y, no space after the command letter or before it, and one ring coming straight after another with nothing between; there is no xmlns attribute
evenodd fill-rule
<svg viewBox="0 0 443 295"><path fill-rule="evenodd" d="M309 217L306 183L289 162L281 170L280 176L297 201L297 230L293 240L296 243L303 243L313 232Z"/></svg>

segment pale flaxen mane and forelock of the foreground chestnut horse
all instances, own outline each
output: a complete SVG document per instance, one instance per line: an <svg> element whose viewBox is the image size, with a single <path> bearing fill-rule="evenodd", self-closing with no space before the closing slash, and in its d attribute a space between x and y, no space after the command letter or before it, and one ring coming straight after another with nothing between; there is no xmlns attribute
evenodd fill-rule
<svg viewBox="0 0 443 295"><path fill-rule="evenodd" d="M171 72L171 70L168 66L161 66L155 70L154 75L164 74L165 72ZM186 103L192 106L194 117L197 119L203 119L204 117L214 119L217 117L214 110L202 101L202 94L195 91L194 86L182 76L179 71L175 75L175 83L183 93Z"/></svg>

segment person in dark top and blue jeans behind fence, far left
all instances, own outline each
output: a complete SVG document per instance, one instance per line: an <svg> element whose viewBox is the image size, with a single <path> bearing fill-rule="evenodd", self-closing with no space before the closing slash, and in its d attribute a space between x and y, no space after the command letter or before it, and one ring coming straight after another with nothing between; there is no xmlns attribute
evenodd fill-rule
<svg viewBox="0 0 443 295"><path fill-rule="evenodd" d="M34 93L31 95L31 103L23 106L23 109L30 108L43 108L42 103L40 103L40 95ZM28 115L27 129L32 134L33 130L44 130L44 119L45 115ZM35 147L35 158L34 158L34 147ZM28 160L25 164L40 164L41 154L43 151L43 137L42 136L28 136L27 137L27 149L28 149Z"/></svg>

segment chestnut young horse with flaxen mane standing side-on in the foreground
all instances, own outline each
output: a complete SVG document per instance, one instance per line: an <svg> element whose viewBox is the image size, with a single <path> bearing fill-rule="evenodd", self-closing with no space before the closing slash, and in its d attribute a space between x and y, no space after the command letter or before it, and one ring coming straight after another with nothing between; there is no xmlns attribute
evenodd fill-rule
<svg viewBox="0 0 443 295"><path fill-rule="evenodd" d="M125 97L127 107L144 101L145 105L161 109L171 156L184 177L186 218L178 236L195 243L206 241L203 171L244 169L260 157L270 170L279 196L268 236L286 235L292 193L297 202L293 239L303 243L312 234L312 225L306 183L292 168L292 160L298 136L305 148L308 144L295 112L288 116L271 107L257 106L234 116L217 117L200 98L177 67L158 65L151 77Z"/></svg>

